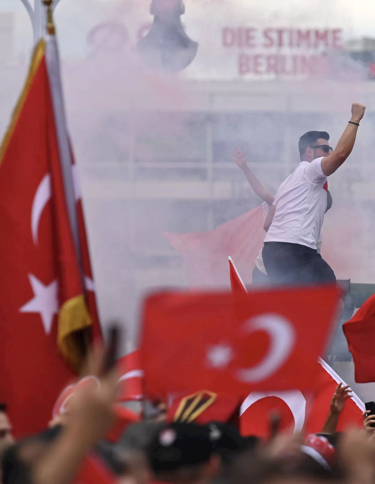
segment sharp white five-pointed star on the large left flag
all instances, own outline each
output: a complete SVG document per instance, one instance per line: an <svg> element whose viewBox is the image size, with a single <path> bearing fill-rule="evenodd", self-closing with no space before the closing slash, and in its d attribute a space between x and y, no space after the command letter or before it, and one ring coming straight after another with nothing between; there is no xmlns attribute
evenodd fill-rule
<svg viewBox="0 0 375 484"><path fill-rule="evenodd" d="M49 334L52 328L53 317L59 311L58 283L55 280L48 286L45 286L33 274L29 274L29 281L34 297L22 306L19 311L20 313L39 313L45 333Z"/></svg>

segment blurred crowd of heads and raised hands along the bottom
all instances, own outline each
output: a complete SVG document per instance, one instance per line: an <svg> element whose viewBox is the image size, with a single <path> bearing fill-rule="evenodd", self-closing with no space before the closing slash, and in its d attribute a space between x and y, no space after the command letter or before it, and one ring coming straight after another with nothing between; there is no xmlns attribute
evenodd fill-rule
<svg viewBox="0 0 375 484"><path fill-rule="evenodd" d="M89 371L100 377L100 385L82 387L65 413L39 435L15 443L1 406L2 484L88 484L79 478L88 455L101 461L109 480L122 484L374 483L375 415L363 414L361 430L335 432L350 398L348 386L337 387L317 434L280 433L273 414L268 439L243 437L233 421L168 419L159 405L152 418L143 414L110 442L105 436L115 419L117 375L114 368L103 371L104 361L105 351L96 349ZM103 475L91 476L94 480L100 482Z"/></svg>

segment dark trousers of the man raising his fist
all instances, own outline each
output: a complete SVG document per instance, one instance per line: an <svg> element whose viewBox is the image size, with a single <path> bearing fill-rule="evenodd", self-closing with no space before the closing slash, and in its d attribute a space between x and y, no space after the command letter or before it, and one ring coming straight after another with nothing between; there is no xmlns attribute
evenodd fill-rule
<svg viewBox="0 0 375 484"><path fill-rule="evenodd" d="M335 284L336 276L315 249L296 243L265 242L263 263L272 285Z"/></svg>

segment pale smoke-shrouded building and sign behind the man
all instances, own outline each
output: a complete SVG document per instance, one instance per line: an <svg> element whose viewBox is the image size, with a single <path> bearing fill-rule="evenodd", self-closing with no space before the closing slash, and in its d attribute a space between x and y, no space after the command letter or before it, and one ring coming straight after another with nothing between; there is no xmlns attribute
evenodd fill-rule
<svg viewBox="0 0 375 484"><path fill-rule="evenodd" d="M33 44L15 3L0 4L0 133ZM103 320L125 319L135 346L142 295L186 284L163 232L211 230L260 204L229 158L235 146L276 192L299 161L298 138L327 130L335 146L353 101L366 117L329 180L323 255L338 278L375 283L375 6L186 0L182 26L199 47L170 74L137 55L150 3L63 0L55 15Z"/></svg>

